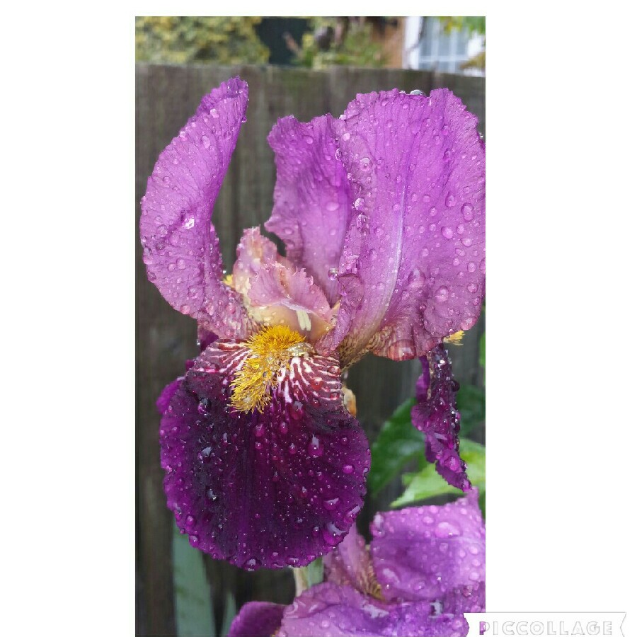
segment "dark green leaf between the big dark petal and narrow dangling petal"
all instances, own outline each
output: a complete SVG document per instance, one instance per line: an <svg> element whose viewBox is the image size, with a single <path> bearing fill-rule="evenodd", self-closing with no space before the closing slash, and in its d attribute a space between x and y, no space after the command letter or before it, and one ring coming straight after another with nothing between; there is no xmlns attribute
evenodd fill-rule
<svg viewBox="0 0 637 637"><path fill-rule="evenodd" d="M409 398L381 427L372 444L372 469L367 485L376 495L392 478L400 474L408 461L423 456L425 437L411 424L411 408L415 398Z"/></svg>

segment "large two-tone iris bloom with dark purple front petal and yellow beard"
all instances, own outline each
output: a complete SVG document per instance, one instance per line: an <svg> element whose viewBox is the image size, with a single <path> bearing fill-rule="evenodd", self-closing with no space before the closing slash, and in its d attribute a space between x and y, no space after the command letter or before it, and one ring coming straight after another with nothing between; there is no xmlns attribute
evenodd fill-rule
<svg viewBox="0 0 637 637"><path fill-rule="evenodd" d="M158 401L161 464L193 546L246 569L304 566L343 541L365 495L343 370L366 352L426 356L478 317L484 150L446 89L285 117L265 227L286 256L248 229L226 276L210 219L247 105L239 78L205 96L142 199L149 280L202 345Z"/></svg>

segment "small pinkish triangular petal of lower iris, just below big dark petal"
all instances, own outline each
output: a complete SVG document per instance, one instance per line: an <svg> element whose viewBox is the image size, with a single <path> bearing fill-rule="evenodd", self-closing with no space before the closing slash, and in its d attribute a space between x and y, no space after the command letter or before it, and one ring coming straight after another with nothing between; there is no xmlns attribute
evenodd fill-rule
<svg viewBox="0 0 637 637"><path fill-rule="evenodd" d="M355 524L352 524L350 532L334 551L323 558L323 566L327 582L352 586L364 595L379 592L372 558Z"/></svg>

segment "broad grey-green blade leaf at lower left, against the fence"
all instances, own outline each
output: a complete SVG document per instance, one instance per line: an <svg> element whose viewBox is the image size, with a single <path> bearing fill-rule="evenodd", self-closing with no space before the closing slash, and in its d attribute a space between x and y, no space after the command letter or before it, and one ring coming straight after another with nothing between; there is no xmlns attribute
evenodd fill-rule
<svg viewBox="0 0 637 637"><path fill-rule="evenodd" d="M188 535L180 534L176 524L173 527L173 585L178 637L214 635L210 586L203 553L190 546Z"/></svg>

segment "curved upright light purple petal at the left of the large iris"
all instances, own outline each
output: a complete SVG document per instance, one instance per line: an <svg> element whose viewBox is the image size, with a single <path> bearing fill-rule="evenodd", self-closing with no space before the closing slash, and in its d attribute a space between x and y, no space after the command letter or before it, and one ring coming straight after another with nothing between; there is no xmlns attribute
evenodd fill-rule
<svg viewBox="0 0 637 637"><path fill-rule="evenodd" d="M222 282L210 224L247 106L248 85L238 77L202 98L159 156L139 222L149 280L171 306L224 338L245 338L252 328L241 297Z"/></svg>

